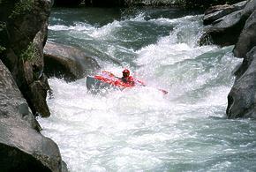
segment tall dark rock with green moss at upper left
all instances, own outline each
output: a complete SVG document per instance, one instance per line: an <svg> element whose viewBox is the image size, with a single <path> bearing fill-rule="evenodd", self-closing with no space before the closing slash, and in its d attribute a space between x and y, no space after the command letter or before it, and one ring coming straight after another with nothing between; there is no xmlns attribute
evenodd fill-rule
<svg viewBox="0 0 256 172"><path fill-rule="evenodd" d="M50 115L49 84L42 72L50 7L50 0L0 1L0 59L34 115L41 116Z"/></svg>

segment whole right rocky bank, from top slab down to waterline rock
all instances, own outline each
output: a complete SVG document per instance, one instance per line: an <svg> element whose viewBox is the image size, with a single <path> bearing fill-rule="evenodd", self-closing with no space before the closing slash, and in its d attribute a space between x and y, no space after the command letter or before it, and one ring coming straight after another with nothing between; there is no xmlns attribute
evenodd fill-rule
<svg viewBox="0 0 256 172"><path fill-rule="evenodd" d="M201 43L233 45L234 56L244 58L234 72L236 80L228 95L229 118L256 118L256 1L215 6L204 17L207 26Z"/></svg>

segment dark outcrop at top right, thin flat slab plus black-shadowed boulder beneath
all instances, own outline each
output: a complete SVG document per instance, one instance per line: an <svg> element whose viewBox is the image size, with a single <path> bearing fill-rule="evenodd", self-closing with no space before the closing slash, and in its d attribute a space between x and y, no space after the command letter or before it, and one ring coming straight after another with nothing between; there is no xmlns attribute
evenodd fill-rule
<svg viewBox="0 0 256 172"><path fill-rule="evenodd" d="M218 6L212 13L207 13L204 23L208 26L200 39L200 44L207 44L209 39L212 43L220 46L236 44L245 22L256 10L255 0L244 1L244 4L230 5L229 8Z"/></svg>

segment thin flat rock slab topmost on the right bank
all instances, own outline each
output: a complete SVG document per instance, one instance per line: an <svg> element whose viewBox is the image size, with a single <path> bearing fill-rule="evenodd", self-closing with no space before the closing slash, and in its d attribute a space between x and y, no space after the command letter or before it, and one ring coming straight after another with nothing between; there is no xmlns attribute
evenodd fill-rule
<svg viewBox="0 0 256 172"><path fill-rule="evenodd" d="M212 24L215 20L221 19L222 17L234 12L234 11L239 11L245 8L245 4L247 1L240 2L238 4L224 4L224 5L216 5L211 8L209 8L205 12L205 16L203 18L203 23L204 25L210 25Z"/></svg>

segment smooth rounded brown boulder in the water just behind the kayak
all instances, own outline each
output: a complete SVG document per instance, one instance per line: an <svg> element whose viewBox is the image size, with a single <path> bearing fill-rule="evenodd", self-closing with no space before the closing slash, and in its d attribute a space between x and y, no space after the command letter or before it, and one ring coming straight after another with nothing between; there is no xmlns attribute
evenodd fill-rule
<svg viewBox="0 0 256 172"><path fill-rule="evenodd" d="M81 79L100 69L94 58L72 46L48 41L44 47L45 72L68 81Z"/></svg>

